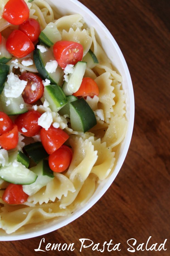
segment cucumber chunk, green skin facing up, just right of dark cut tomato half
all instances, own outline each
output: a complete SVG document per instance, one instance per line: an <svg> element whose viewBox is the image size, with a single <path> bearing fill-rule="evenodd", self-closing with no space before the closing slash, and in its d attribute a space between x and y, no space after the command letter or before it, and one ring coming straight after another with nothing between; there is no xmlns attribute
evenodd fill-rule
<svg viewBox="0 0 170 256"><path fill-rule="evenodd" d="M57 84L46 85L44 87L44 95L41 100L44 101L45 99L50 104L49 108L54 112L58 112L58 110L67 104L67 98L64 91Z"/></svg>

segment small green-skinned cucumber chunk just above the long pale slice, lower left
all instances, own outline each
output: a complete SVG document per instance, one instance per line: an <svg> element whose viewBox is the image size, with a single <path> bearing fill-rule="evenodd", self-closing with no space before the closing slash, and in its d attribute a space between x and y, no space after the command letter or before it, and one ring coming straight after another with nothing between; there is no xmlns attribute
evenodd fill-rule
<svg viewBox="0 0 170 256"><path fill-rule="evenodd" d="M18 162L22 163L26 168L29 167L30 164L30 159L21 151L17 150L15 152L8 153L8 161L9 162L14 162L17 160Z"/></svg>

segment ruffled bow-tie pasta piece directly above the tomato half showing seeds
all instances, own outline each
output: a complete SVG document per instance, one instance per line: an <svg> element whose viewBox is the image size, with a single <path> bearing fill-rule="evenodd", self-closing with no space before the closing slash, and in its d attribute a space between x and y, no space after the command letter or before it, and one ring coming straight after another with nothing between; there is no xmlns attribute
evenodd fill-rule
<svg viewBox="0 0 170 256"><path fill-rule="evenodd" d="M77 28L75 31L73 28L70 28L68 32L63 30L62 40L80 43L83 46L83 56L89 51L92 43L92 38L88 31L86 29L80 30L80 28Z"/></svg>

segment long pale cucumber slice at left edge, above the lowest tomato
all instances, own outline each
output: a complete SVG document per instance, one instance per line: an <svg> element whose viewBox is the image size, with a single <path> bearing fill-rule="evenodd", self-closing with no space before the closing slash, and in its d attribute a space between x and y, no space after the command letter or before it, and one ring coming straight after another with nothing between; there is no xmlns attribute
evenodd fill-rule
<svg viewBox="0 0 170 256"><path fill-rule="evenodd" d="M36 181L37 175L16 160L9 166L0 168L0 177L4 181L26 185Z"/></svg>

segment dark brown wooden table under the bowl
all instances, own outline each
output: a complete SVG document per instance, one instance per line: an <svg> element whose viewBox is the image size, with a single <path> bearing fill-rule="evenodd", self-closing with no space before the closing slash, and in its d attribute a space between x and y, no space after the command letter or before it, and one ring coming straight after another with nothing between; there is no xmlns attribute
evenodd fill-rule
<svg viewBox="0 0 170 256"><path fill-rule="evenodd" d="M125 162L105 195L83 216L57 231L41 237L0 242L0 255L44 255L35 252L40 240L47 243L74 243L74 251L49 251L45 255L88 255L92 246L80 253L81 238L100 243L121 243L121 251L102 255L170 255L170 62L168 0L81 0L111 31L125 57L135 94L135 125ZM146 242L165 242L164 251L136 251ZM137 240L135 253L127 240ZM129 241L132 245L134 240ZM158 247L158 246L157 246ZM113 248L110 246L109 249ZM131 248L132 249L132 248Z"/></svg>

